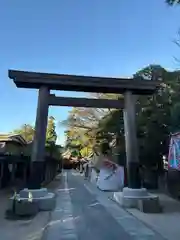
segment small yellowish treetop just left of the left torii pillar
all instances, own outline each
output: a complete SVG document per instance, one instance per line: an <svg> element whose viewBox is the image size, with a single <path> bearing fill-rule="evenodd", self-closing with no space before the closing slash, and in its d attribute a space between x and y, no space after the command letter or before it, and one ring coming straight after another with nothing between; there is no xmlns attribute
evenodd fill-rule
<svg viewBox="0 0 180 240"><path fill-rule="evenodd" d="M30 124L23 124L20 128L13 131L15 134L20 134L27 142L31 142L33 140L34 132L34 127Z"/></svg>

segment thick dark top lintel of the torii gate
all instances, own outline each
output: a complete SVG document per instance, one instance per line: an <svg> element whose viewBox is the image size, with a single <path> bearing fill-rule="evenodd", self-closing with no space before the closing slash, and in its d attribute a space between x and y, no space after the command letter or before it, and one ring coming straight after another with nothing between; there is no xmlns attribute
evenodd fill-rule
<svg viewBox="0 0 180 240"><path fill-rule="evenodd" d="M143 78L93 77L18 70L9 70L9 78L19 88L38 89L46 85L52 90L117 94L128 90L139 95L152 94L160 86L160 81Z"/></svg>

